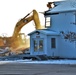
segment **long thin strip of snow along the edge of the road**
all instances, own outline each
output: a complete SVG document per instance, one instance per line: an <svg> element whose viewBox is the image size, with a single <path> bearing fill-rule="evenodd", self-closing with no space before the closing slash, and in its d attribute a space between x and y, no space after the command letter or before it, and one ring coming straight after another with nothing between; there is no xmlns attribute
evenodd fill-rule
<svg viewBox="0 0 76 75"><path fill-rule="evenodd" d="M7 63L25 63L25 64L76 64L76 60L47 60L47 61L32 61L32 60L14 60L0 61L1 64Z"/></svg>

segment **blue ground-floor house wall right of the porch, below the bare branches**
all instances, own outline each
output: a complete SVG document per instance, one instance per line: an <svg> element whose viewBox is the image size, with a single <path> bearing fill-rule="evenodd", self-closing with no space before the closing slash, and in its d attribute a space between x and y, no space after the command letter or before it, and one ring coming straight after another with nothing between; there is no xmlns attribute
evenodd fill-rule
<svg viewBox="0 0 76 75"><path fill-rule="evenodd" d="M59 37L59 57L61 58L76 58L76 43L65 40Z"/></svg>

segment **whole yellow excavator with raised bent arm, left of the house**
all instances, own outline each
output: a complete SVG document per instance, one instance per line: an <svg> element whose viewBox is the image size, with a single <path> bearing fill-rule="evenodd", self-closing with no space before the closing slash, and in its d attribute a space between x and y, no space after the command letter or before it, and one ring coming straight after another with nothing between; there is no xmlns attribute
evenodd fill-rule
<svg viewBox="0 0 76 75"><path fill-rule="evenodd" d="M30 16L30 14L33 14ZM34 21L36 29L43 29L40 24L39 16L36 10L28 13L20 21L17 22L13 35L11 37L0 37L0 48L9 47L12 51L14 50L24 50L29 48L28 40L24 33L20 33L23 26L28 24L30 21ZM28 28L29 29L29 28ZM23 38L24 37L24 38Z"/></svg>

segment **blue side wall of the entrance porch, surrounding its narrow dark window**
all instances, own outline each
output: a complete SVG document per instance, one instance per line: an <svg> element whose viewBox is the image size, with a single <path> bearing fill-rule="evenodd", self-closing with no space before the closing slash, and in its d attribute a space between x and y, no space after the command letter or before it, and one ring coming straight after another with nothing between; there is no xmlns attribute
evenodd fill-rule
<svg viewBox="0 0 76 75"><path fill-rule="evenodd" d="M58 37L59 36L55 36L55 35L51 35L51 36L47 36L47 56L52 56L52 57L58 57L58 50L59 50L59 44L58 44ZM51 48L51 38L55 38L56 39L56 48Z"/></svg>

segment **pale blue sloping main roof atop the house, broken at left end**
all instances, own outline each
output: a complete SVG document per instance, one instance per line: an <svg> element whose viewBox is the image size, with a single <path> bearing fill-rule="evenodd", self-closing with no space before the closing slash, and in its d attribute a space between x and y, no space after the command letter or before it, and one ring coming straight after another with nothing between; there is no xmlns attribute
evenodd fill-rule
<svg viewBox="0 0 76 75"><path fill-rule="evenodd" d="M76 0L60 1L54 3L56 4L56 7L50 9L47 13L76 11Z"/></svg>

